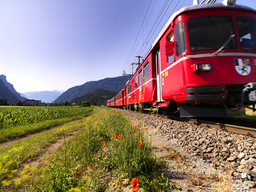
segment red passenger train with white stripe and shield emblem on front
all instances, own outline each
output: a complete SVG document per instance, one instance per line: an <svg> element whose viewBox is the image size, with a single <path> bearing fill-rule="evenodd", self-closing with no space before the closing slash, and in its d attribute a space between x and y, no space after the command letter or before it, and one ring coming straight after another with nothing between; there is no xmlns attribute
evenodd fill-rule
<svg viewBox="0 0 256 192"><path fill-rule="evenodd" d="M196 3L195 3L196 4ZM176 12L111 107L234 116L256 103L256 11L235 0Z"/></svg>

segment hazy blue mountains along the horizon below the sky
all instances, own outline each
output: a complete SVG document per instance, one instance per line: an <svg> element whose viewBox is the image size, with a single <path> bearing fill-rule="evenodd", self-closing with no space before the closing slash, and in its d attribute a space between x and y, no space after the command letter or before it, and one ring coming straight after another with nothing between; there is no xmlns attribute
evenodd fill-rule
<svg viewBox="0 0 256 192"><path fill-rule="evenodd" d="M6 76L0 75L0 97L6 98L9 104L24 99L41 100L45 103L79 102L85 99L92 100L92 105L103 105L106 99L111 99L116 93L119 93L129 79L130 76L119 76L99 81L88 81L82 85L71 87L65 92L54 90L17 93L13 85L6 80ZM99 100L99 102L94 104L95 100Z"/></svg>

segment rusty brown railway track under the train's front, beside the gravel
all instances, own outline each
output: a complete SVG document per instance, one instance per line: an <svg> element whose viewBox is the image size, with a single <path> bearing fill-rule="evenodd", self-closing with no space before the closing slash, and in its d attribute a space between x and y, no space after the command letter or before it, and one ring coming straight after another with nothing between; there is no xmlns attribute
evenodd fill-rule
<svg viewBox="0 0 256 192"><path fill-rule="evenodd" d="M168 119L187 122L196 125L202 125L210 128L230 131L233 133L243 134L246 136L256 137L256 121L248 119L232 119L232 118L201 118L188 119L178 116L157 114ZM246 126L243 126L246 125Z"/></svg>

